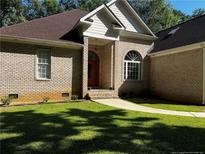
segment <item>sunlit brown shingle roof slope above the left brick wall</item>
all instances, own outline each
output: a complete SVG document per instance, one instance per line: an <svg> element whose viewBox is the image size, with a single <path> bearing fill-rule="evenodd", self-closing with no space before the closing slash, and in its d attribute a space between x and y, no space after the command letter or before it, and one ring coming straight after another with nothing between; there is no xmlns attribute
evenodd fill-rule
<svg viewBox="0 0 205 154"><path fill-rule="evenodd" d="M59 41L87 12L74 9L44 18L0 28L1 35Z"/></svg>

